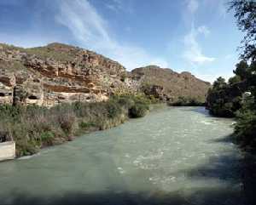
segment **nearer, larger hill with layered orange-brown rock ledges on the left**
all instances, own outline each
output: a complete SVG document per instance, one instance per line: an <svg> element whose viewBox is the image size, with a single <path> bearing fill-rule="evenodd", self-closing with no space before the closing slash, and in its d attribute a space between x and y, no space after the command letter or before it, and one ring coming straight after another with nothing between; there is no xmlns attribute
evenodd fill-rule
<svg viewBox="0 0 256 205"><path fill-rule="evenodd" d="M0 44L0 103L107 100L109 94L130 89L123 82L125 73L113 60L61 43L41 48Z"/></svg>

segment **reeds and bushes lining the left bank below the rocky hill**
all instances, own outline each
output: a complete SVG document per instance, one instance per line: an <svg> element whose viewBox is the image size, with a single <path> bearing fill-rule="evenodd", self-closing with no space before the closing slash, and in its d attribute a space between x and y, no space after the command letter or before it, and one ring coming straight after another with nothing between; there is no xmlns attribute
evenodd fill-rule
<svg viewBox="0 0 256 205"><path fill-rule="evenodd" d="M149 101L142 96L113 96L106 102L74 102L52 108L0 105L0 134L15 140L17 157L58 145L91 130L112 128L128 117L143 117Z"/></svg>

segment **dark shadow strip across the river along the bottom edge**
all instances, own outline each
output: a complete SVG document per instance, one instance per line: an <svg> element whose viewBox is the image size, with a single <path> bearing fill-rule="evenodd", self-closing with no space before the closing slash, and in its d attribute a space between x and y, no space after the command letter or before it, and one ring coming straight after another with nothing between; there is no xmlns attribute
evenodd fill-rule
<svg viewBox="0 0 256 205"><path fill-rule="evenodd" d="M149 193L68 193L64 196L50 198L29 196L26 193L13 197L11 202L1 202L1 205L240 205L241 197L236 191L207 190L194 191L193 194L183 196L182 193L156 192Z"/></svg>

